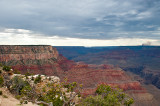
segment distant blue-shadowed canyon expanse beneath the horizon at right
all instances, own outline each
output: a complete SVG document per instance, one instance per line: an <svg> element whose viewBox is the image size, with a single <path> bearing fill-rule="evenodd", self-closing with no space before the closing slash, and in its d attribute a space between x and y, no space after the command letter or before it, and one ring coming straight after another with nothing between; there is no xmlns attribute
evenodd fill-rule
<svg viewBox="0 0 160 106"><path fill-rule="evenodd" d="M113 64L140 75L160 89L160 46L57 47L74 61L88 64ZM73 55L71 52L74 51ZM83 52L81 52L83 51ZM82 55L83 53L83 55Z"/></svg>

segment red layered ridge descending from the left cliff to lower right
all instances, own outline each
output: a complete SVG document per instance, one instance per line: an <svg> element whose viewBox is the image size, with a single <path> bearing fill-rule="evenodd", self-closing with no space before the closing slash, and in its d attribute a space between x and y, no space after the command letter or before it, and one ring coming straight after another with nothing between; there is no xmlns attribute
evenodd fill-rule
<svg viewBox="0 0 160 106"><path fill-rule="evenodd" d="M75 63L60 56L58 76L63 80L68 78L69 82L83 84L83 95L92 95L100 84L107 84L112 87L119 87L134 98L133 106L158 106L157 100L152 94L141 86L140 82L132 80L120 68L112 65L88 65L82 62ZM67 64L66 64L67 63ZM61 68L60 68L61 67Z"/></svg>

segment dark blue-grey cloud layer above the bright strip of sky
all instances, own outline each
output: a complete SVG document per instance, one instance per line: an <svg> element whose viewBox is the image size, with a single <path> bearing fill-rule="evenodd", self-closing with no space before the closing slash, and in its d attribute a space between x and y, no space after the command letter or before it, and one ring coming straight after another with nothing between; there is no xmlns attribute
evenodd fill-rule
<svg viewBox="0 0 160 106"><path fill-rule="evenodd" d="M0 30L87 39L160 39L159 0L1 0Z"/></svg>

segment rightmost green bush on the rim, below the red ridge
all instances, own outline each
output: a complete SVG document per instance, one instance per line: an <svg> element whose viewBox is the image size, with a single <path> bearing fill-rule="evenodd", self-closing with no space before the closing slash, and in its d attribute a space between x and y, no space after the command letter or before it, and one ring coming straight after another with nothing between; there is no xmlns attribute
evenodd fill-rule
<svg viewBox="0 0 160 106"><path fill-rule="evenodd" d="M121 89L100 85L96 96L88 96L79 104L80 106L130 106L133 99L122 92Z"/></svg>

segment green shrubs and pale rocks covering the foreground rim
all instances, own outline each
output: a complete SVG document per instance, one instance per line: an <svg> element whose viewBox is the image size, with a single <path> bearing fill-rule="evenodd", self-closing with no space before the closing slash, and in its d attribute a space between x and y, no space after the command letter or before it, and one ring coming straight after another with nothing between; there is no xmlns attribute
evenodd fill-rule
<svg viewBox="0 0 160 106"><path fill-rule="evenodd" d="M81 97L82 85L68 83L67 79L64 82L54 82L51 77L34 77L30 73L9 79L13 74L8 73L11 73L11 68L3 66L0 85L6 86L21 104L32 102L42 106L129 106L134 102L121 89L108 85L98 86L95 95Z"/></svg>

